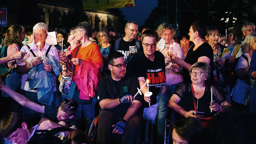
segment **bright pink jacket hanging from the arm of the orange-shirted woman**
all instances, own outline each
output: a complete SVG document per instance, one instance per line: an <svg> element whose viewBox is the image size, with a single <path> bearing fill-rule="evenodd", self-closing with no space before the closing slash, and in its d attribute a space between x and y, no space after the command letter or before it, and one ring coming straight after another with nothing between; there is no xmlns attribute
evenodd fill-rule
<svg viewBox="0 0 256 144"><path fill-rule="evenodd" d="M88 60L80 65L73 80L80 90L79 98L88 100L95 96L98 89L98 74L100 65L97 62Z"/></svg>

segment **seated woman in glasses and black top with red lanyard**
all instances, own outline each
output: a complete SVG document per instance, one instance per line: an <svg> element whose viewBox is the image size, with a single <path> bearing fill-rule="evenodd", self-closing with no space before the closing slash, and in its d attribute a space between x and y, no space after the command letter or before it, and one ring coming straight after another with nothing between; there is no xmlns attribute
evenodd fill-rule
<svg viewBox="0 0 256 144"><path fill-rule="evenodd" d="M193 64L189 71L192 84L182 84L171 96L168 106L185 118L203 120L210 119L218 112L231 111L232 106L218 88L205 83L210 77L210 71L210 66L206 62ZM204 117L195 115L196 112L204 112Z"/></svg>

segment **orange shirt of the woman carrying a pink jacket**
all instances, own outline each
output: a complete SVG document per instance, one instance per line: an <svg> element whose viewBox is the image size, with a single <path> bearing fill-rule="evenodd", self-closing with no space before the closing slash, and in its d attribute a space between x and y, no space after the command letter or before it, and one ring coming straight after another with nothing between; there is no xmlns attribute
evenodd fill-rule
<svg viewBox="0 0 256 144"><path fill-rule="evenodd" d="M76 48L74 48L71 60L74 58L77 48L79 46L80 45L78 45ZM103 65L103 60L102 60L102 56L100 53L100 49L99 49L98 45L96 45L93 42L91 44L89 44L87 47L81 48L81 46L80 46L75 58L82 59L82 60L91 60L91 61L97 62L100 65ZM72 61L71 61L71 64L73 65ZM75 65L74 75L78 71L79 66L80 65Z"/></svg>

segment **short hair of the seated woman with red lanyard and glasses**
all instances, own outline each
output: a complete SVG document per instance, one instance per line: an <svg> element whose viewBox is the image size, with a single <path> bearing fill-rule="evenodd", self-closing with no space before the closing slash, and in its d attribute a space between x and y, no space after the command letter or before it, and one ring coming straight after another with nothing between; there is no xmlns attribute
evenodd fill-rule
<svg viewBox="0 0 256 144"><path fill-rule="evenodd" d="M211 67L206 62L195 62L189 70L189 75L191 75L193 69L201 69L205 73L206 78L210 78Z"/></svg>

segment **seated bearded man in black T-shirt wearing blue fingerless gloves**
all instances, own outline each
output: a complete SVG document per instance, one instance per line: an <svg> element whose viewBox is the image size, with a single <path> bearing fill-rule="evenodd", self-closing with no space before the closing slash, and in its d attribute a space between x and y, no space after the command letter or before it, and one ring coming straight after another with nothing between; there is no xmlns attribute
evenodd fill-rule
<svg viewBox="0 0 256 144"><path fill-rule="evenodd" d="M102 109L98 115L97 144L113 144L113 137L122 137L121 144L135 144L143 125L143 97L135 96L139 82L136 77L126 73L121 52L110 53L108 62L111 74L98 83L97 96Z"/></svg>

